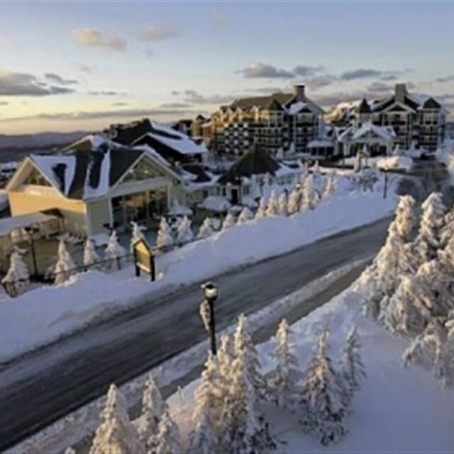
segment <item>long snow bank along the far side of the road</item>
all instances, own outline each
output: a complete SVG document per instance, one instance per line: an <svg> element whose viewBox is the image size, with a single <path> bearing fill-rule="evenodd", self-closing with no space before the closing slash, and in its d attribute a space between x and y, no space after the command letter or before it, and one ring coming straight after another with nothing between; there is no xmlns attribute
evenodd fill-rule
<svg viewBox="0 0 454 454"><path fill-rule="evenodd" d="M150 301L183 284L371 223L391 213L396 201L395 196L382 199L378 192L351 192L323 200L314 211L229 228L159 256L157 272L164 277L158 282L131 277L132 267L112 275L91 271L60 287L42 287L16 299L4 299L0 301L0 362L145 298Z"/></svg>

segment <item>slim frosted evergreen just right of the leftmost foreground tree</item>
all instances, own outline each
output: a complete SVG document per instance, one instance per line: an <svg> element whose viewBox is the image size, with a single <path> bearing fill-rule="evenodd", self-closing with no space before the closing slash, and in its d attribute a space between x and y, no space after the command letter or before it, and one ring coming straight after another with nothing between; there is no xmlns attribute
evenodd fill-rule
<svg viewBox="0 0 454 454"><path fill-rule="evenodd" d="M160 390L150 373L143 390L142 412L136 424L138 436L144 445L148 445L150 438L157 435L159 422L165 409L167 404L162 401Z"/></svg>

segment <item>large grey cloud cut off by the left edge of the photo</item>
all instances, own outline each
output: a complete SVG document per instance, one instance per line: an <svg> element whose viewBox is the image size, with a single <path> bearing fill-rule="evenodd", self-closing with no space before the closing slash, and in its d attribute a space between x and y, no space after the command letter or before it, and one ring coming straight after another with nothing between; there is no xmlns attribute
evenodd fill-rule
<svg viewBox="0 0 454 454"><path fill-rule="evenodd" d="M0 96L47 96L73 92L74 89L43 82L33 74L0 71Z"/></svg>

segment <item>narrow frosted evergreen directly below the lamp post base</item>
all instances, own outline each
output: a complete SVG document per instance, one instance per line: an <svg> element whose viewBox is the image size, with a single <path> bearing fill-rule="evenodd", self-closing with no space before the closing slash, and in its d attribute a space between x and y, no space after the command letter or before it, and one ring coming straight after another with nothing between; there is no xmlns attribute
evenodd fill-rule
<svg viewBox="0 0 454 454"><path fill-rule="evenodd" d="M210 454L218 444L217 424L222 409L219 390L219 371L216 357L209 352L201 383L194 394L195 408L192 416L194 431L190 434L190 452Z"/></svg>

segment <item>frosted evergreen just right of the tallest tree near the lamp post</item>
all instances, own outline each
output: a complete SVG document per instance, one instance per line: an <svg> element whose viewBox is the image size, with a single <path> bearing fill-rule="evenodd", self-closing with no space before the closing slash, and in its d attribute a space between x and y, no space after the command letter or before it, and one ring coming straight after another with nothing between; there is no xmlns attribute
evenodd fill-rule
<svg viewBox="0 0 454 454"><path fill-rule="evenodd" d="M303 375L294 354L294 344L289 341L289 325L283 319L276 332L276 349L272 353L274 367L268 375L268 389L272 399L282 409L295 410L299 394L299 382Z"/></svg>

